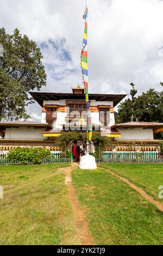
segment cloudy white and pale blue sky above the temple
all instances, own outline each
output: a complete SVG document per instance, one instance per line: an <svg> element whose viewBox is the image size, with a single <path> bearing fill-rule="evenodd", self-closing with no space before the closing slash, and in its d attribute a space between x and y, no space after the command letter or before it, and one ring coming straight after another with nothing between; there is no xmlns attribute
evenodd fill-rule
<svg viewBox="0 0 163 256"><path fill-rule="evenodd" d="M87 0L89 92L139 94L161 90L163 1ZM0 26L15 27L41 47L47 73L42 92L71 92L82 85L80 52L85 0L0 0ZM41 107L30 106L40 121Z"/></svg>

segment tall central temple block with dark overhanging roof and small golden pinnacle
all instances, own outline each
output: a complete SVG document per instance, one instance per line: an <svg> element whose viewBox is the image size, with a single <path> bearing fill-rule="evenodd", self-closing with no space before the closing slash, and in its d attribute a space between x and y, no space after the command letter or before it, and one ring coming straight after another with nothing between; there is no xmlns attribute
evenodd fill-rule
<svg viewBox="0 0 163 256"><path fill-rule="evenodd" d="M30 93L42 107L41 123L53 124L44 137L58 137L68 130L86 131L86 102L84 88L72 88L72 93ZM89 94L92 129L114 125L114 107L126 94ZM76 115L77 113L77 115ZM115 135L116 137L116 135Z"/></svg>

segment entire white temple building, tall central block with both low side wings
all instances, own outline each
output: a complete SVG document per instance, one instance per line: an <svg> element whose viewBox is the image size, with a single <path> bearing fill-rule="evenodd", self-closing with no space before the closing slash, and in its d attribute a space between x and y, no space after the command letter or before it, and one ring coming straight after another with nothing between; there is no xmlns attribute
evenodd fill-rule
<svg viewBox="0 0 163 256"><path fill-rule="evenodd" d="M6 153L12 148L47 147L52 152L60 151L56 139L62 132L86 132L86 102L84 88L79 85L72 93L31 92L34 100L42 108L40 123L32 121L1 121L0 151ZM114 107L126 94L89 94L92 130L108 136L112 145L106 151L134 151L142 143L143 151L156 151L159 140L153 134L163 129L163 124L130 122L115 124ZM135 146L136 142L136 146ZM132 144L132 146L131 146Z"/></svg>

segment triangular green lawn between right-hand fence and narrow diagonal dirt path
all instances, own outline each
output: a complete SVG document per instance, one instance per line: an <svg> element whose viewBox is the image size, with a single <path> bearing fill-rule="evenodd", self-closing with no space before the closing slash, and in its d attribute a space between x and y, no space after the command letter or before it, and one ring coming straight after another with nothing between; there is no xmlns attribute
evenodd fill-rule
<svg viewBox="0 0 163 256"><path fill-rule="evenodd" d="M163 185L163 164L100 164L99 167L113 170L114 173L127 178L139 187L142 187L156 200L159 199L159 186Z"/></svg>

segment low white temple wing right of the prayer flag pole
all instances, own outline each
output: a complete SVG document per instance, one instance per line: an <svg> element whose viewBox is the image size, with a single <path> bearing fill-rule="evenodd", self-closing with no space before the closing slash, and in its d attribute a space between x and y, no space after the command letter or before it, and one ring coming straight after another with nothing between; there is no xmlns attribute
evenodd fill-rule
<svg viewBox="0 0 163 256"><path fill-rule="evenodd" d="M154 134L163 131L163 123L131 121L103 127L101 131L103 136L112 137L113 140L105 151L157 151L160 140L154 139Z"/></svg>

